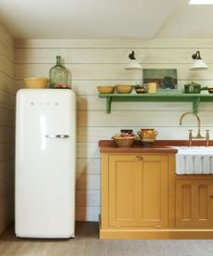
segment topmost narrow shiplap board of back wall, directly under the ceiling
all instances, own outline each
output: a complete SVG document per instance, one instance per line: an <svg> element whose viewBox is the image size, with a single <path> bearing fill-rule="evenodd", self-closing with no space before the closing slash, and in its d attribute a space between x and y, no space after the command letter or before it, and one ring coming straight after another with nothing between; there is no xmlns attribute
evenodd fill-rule
<svg viewBox="0 0 213 256"><path fill-rule="evenodd" d="M142 39L17 39L15 47L18 48L213 48L211 38L155 38L152 40Z"/></svg>

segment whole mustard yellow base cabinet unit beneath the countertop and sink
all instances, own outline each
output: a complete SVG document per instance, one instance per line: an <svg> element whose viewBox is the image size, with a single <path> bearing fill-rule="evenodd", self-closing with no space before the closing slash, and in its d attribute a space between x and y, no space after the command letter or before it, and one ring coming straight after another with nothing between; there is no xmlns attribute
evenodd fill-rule
<svg viewBox="0 0 213 256"><path fill-rule="evenodd" d="M175 174L175 148L100 147L100 238L213 238L213 175Z"/></svg>

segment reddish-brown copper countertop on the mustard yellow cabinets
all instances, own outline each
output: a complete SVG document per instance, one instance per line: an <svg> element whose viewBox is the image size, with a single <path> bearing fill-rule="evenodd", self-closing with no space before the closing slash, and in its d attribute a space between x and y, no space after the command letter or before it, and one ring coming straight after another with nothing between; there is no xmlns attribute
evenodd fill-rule
<svg viewBox="0 0 213 256"><path fill-rule="evenodd" d="M173 153L178 149L174 146L188 146L188 140L157 140L155 143L143 144L135 140L132 147L117 147L113 140L100 140L99 147L101 153ZM205 141L193 141L193 146L204 146ZM173 147L172 147L173 146ZM209 146L213 146L213 141L209 141Z"/></svg>

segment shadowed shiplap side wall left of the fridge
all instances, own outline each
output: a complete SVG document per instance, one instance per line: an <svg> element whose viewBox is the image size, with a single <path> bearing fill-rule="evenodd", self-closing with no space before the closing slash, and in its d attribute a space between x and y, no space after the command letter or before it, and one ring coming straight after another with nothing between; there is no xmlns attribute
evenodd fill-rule
<svg viewBox="0 0 213 256"><path fill-rule="evenodd" d="M0 233L14 216L14 44L0 25Z"/></svg>

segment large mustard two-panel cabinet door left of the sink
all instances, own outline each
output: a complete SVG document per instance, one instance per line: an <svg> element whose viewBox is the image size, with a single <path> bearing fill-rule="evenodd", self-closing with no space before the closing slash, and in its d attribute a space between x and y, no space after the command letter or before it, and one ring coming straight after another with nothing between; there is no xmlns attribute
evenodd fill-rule
<svg viewBox="0 0 213 256"><path fill-rule="evenodd" d="M109 225L168 225L168 157L109 157Z"/></svg>

